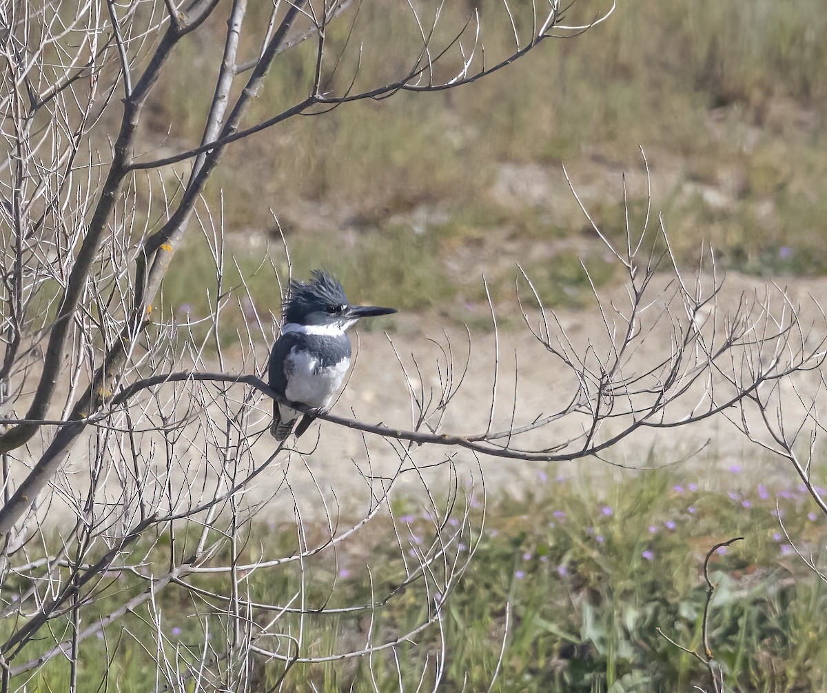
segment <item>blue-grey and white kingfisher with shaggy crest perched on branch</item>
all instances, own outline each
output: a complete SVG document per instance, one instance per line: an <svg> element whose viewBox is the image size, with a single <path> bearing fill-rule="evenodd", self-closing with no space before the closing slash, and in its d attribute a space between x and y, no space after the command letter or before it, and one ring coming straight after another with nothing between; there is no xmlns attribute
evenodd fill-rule
<svg viewBox="0 0 827 693"><path fill-rule="evenodd" d="M336 279L323 270L311 274L311 282L290 282L282 309L281 337L270 351L270 387L289 402L324 412L351 365L347 328L359 318L396 313L396 308L351 306ZM283 441L300 415L274 400L270 433ZM296 437L314 418L313 414L304 415Z"/></svg>

